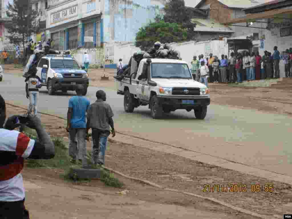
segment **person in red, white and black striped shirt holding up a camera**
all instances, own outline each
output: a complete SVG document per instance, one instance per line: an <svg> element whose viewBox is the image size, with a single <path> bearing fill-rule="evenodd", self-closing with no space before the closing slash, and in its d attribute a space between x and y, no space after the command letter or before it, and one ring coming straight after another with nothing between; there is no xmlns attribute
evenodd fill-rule
<svg viewBox="0 0 292 219"><path fill-rule="evenodd" d="M21 174L24 159L52 159L55 147L36 116L12 116L4 125L5 119L6 105L0 95L0 218L29 219ZM14 130L21 125L36 130L38 140Z"/></svg>

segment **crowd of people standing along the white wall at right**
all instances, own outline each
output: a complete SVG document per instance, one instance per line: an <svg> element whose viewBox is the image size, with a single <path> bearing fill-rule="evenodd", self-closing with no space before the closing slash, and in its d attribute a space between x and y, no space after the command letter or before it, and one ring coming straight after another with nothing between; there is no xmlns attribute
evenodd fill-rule
<svg viewBox="0 0 292 219"><path fill-rule="evenodd" d="M209 54L210 58L203 54L194 55L191 62L192 75L196 81L208 85L211 83L242 83L242 81L253 81L260 79L272 79L280 77L279 62L281 60L280 52L277 46L274 47L274 53L268 51L261 57L259 52L243 51L242 53L230 53L230 57L222 54L221 59ZM286 49L283 56L285 65L285 77L292 77L292 51ZM263 71L261 66L263 64ZM202 68L203 67L203 68ZM204 75L201 73L203 69ZM208 74L206 75L205 70ZM204 77L201 79L201 77Z"/></svg>

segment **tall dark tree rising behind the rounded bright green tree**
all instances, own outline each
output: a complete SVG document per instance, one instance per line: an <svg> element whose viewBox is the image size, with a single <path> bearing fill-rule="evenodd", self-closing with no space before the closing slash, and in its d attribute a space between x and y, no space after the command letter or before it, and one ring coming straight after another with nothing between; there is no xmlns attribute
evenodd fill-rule
<svg viewBox="0 0 292 219"><path fill-rule="evenodd" d="M164 12L165 22L180 24L187 30L187 39L194 39L196 24L191 22L194 12L191 8L185 7L184 0L167 0Z"/></svg>

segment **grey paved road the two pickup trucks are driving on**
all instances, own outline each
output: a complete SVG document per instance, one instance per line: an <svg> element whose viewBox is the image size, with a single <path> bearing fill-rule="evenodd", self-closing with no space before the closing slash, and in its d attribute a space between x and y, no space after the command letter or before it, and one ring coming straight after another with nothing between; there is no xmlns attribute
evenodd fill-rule
<svg viewBox="0 0 292 219"><path fill-rule="evenodd" d="M4 77L1 95L15 104L27 105L23 78L10 75L9 71ZM91 102L96 100L97 89L88 89ZM122 133L292 176L291 117L211 104L203 121L185 110L154 120L147 107L125 113L123 96L104 90L114 110L116 129ZM74 94L49 96L42 88L39 111L66 117L68 100Z"/></svg>

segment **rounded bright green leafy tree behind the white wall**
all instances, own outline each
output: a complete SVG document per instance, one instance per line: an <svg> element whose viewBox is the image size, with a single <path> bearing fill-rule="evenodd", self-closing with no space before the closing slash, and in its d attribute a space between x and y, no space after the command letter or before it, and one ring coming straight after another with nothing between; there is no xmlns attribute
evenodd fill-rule
<svg viewBox="0 0 292 219"><path fill-rule="evenodd" d="M185 41L187 31L177 23L168 23L163 20L150 22L147 26L141 27L136 34L135 46L142 50L152 47L156 41L161 43L170 43Z"/></svg>

